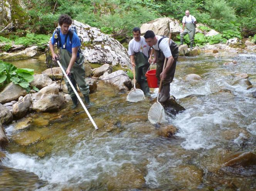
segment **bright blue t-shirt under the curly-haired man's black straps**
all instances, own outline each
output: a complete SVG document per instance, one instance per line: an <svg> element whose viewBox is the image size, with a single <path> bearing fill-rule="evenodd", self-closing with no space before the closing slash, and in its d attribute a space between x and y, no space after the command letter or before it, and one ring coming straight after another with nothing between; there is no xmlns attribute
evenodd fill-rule
<svg viewBox="0 0 256 191"><path fill-rule="evenodd" d="M57 32L57 31L56 31ZM54 45L56 42L57 42L57 39L54 38L54 34L55 32L53 33L52 35L52 39L51 39L51 42L52 44ZM66 34L67 35L67 34ZM61 36L61 47L63 48L63 45L65 44L65 38L66 38L66 35L63 35L60 31L60 36ZM59 37L60 38L60 37ZM67 51L71 52L72 53L72 48L75 48L75 47L80 47L81 46L81 43L79 41L79 38L77 36L77 34L74 32L73 34L73 38L72 38L72 44L70 42L70 39L69 39L69 35L67 36L67 41L66 41L66 49ZM79 52L77 51L77 56L79 56Z"/></svg>

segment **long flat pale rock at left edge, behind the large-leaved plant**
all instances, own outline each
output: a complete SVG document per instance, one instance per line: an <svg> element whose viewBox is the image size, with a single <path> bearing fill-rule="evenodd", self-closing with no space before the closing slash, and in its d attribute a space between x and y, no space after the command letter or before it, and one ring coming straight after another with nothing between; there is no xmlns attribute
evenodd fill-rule
<svg viewBox="0 0 256 191"><path fill-rule="evenodd" d="M33 46L18 52L0 53L0 60L19 60L19 59L31 58L36 54L37 54L37 46Z"/></svg>

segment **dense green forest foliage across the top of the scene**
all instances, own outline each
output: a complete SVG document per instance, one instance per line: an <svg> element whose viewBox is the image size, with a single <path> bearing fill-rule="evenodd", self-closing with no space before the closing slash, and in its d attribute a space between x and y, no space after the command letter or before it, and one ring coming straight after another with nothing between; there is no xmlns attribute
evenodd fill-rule
<svg viewBox="0 0 256 191"><path fill-rule="evenodd" d="M133 27L155 18L181 21L187 9L197 22L218 32L256 33L256 0L23 0L26 9L18 1L8 1L15 29L37 34L51 34L59 15L66 13L114 38L127 37Z"/></svg>

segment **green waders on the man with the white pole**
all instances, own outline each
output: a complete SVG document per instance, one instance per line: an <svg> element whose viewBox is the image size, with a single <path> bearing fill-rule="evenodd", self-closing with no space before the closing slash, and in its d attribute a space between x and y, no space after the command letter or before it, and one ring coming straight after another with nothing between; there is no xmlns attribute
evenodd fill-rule
<svg viewBox="0 0 256 191"><path fill-rule="evenodd" d="M71 52L67 51L66 49L61 48L61 59L62 59L61 64L64 67L64 70L67 70L67 67L71 60L71 57L72 57ZM89 85L85 81L85 70L84 70L83 63L84 63L84 56L82 55L82 53L79 53L79 57L76 58L76 61L70 70L71 75L69 76L69 78L76 90L77 90L77 88L76 88L76 84L77 84L81 93L83 93L83 95L88 96L89 95ZM69 90L69 95L71 96L71 98L74 97L75 93L72 90L72 88L70 87L66 78L65 78L65 83Z"/></svg>

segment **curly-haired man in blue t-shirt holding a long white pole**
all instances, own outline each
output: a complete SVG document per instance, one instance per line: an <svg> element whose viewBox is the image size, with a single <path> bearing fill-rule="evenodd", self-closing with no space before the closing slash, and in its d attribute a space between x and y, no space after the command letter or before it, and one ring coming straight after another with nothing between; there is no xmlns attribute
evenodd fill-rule
<svg viewBox="0 0 256 191"><path fill-rule="evenodd" d="M54 44L57 43L61 52L61 65L66 70L67 76L69 76L73 86L77 90L79 87L81 93L84 95L86 103L89 104L89 85L85 81L85 70L84 70L84 56L81 53L79 47L81 43L75 32L69 30L69 26L72 24L71 17L63 14L58 20L60 29L56 30L50 41L50 50L52 53L52 60L57 60L58 56L54 52ZM65 83L69 90L73 106L75 108L78 104L77 97L65 78Z"/></svg>

